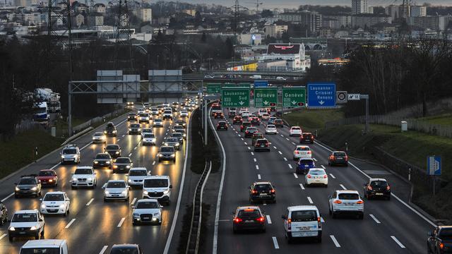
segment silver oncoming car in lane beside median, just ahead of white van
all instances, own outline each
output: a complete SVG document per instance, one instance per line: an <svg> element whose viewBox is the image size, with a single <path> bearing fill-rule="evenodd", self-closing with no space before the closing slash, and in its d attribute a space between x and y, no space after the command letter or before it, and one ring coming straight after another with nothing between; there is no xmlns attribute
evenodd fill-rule
<svg viewBox="0 0 452 254"><path fill-rule="evenodd" d="M133 207L133 226L137 224L162 224L162 205L157 200L137 200Z"/></svg>

